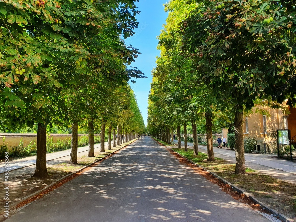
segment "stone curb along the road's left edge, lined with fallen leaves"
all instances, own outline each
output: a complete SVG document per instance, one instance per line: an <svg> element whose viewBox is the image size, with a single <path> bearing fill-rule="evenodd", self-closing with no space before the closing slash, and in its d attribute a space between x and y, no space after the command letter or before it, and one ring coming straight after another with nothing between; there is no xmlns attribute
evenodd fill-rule
<svg viewBox="0 0 296 222"><path fill-rule="evenodd" d="M136 141L136 139L133 140L133 141L131 141L129 144L133 143L134 141ZM22 198L21 200L17 201L16 203L14 203L14 204L12 204L12 205L9 205L9 213L11 213L12 210L16 210L16 209L14 209L14 208L15 208L17 205L19 205L20 203L22 203L22 202L24 202L24 201L26 201L26 200L28 200L28 199L34 197L34 196L36 196L36 195L38 195L38 194L40 194L40 193L46 191L47 189L52 188L54 185L56 185L56 184L60 183L61 181L63 181L63 180L65 180L65 179L67 179L67 178L73 176L74 174L79 173L79 172L81 172L82 170L91 167L91 166L94 165L95 163L99 162L99 161L102 160L102 159L105 159L105 158L109 157L110 155L114 154L115 152L117 152L117 151L119 151L119 150L125 148L125 147L128 146L129 144L126 144L124 147L121 147L120 149L115 150L115 151L112 152L112 153L109 153L107 156L102 157L102 158L100 158L100 159L94 161L93 163L91 163L91 164L89 164L89 165L87 165L87 166L84 166L83 168L80 168L80 169L79 169L78 171L76 171L76 172L69 173L68 175L66 175L66 176L64 176L64 177L62 177L62 178L60 178L60 179L54 181L52 184L49 184L48 186L44 187L43 189L41 189L41 190L39 190L39 191L37 191L37 192L35 192L35 193L33 193L33 194L30 194L30 195L28 195L28 196ZM34 201L36 201L36 200L34 200ZM34 201L32 201L32 202L34 202ZM30 203L28 203L28 204L30 204ZM26 204L26 205L27 205L27 204ZM25 205L25 206L26 206L26 205ZM25 206L24 206L24 207L25 207ZM22 208L23 208L23 207L22 207ZM4 217L4 216L3 216L4 211L5 211L5 209L2 209L2 210L0 211L0 217ZM9 215L12 215L12 214L9 214ZM7 218L4 218L4 220L5 220L5 219L7 219Z"/></svg>

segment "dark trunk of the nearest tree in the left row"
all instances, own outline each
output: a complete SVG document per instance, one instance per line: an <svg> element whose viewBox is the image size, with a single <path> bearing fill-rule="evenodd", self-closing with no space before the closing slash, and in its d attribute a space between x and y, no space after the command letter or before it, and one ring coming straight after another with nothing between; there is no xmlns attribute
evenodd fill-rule
<svg viewBox="0 0 296 222"><path fill-rule="evenodd" d="M46 169L46 125L38 123L36 168L33 177L48 177Z"/></svg>

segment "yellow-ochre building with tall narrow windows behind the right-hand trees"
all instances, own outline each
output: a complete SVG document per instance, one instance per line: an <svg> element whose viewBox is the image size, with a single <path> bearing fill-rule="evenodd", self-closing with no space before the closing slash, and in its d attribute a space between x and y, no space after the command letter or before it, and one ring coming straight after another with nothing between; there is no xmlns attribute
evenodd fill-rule
<svg viewBox="0 0 296 222"><path fill-rule="evenodd" d="M296 108L288 107L289 115L285 115L281 109L267 106L257 106L257 108L266 110L269 115L256 113L256 107L253 107L252 114L245 116L244 119L244 136L257 139L256 151L264 152L266 147L266 152L268 148L272 153L277 152L276 139L271 137L271 133L277 129L290 129L291 139L296 141Z"/></svg>

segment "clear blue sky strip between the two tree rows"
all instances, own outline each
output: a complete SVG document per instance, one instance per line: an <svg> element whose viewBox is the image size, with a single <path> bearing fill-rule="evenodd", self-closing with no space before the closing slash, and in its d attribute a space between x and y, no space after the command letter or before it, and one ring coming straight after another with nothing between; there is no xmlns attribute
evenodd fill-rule
<svg viewBox="0 0 296 222"><path fill-rule="evenodd" d="M164 6L168 0L139 0L136 5L141 11L136 18L139 22L139 28L136 29L136 35L125 40L126 45L131 44L139 49L142 54L131 65L136 66L141 70L145 79L135 79L136 83L130 83L131 88L136 94L140 111L143 115L144 122L147 125L147 106L150 83L152 82L151 71L156 67L155 60L160 54L156 49L158 40L157 36L160 30L163 29L165 19L168 14L164 11Z"/></svg>

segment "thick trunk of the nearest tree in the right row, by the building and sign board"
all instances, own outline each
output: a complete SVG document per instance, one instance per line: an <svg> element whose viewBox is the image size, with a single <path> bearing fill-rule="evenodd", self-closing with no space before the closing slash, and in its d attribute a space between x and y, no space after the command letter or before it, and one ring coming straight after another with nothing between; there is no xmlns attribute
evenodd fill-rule
<svg viewBox="0 0 296 222"><path fill-rule="evenodd" d="M241 107L241 110L243 108ZM235 173L246 173L244 165L244 136L243 136L244 115L239 110L234 116L234 136L235 136Z"/></svg>

